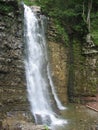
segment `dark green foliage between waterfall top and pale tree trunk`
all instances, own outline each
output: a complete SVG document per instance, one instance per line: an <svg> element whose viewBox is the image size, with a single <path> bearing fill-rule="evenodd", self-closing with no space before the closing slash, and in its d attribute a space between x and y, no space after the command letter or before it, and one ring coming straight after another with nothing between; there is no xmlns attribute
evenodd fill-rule
<svg viewBox="0 0 98 130"><path fill-rule="evenodd" d="M55 26L59 34L57 40L61 38L66 41L71 33L80 34L79 38L84 37L83 29L86 25L82 18L82 1L40 0L38 3L42 12L56 21Z"/></svg>

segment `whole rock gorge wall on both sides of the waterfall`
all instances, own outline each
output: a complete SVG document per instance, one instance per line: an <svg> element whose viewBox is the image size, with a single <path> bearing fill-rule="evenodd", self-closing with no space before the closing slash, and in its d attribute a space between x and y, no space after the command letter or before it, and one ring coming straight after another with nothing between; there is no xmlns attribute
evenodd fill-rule
<svg viewBox="0 0 98 130"><path fill-rule="evenodd" d="M48 53L53 81L63 104L67 94L72 102L98 92L97 46L87 47L78 40L65 43L53 40L57 34L48 21ZM22 10L14 0L0 1L0 115L10 110L28 111L23 63ZM69 44L70 43L70 44Z"/></svg>

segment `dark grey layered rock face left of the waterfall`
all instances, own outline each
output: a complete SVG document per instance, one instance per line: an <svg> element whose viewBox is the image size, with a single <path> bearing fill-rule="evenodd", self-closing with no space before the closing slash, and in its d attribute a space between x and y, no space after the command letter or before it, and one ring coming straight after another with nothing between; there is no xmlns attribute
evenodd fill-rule
<svg viewBox="0 0 98 130"><path fill-rule="evenodd" d="M16 1L0 1L0 8L2 9L0 11L1 114L5 109L27 109L25 107L27 99L23 63L21 11ZM19 107L17 107L18 105Z"/></svg>

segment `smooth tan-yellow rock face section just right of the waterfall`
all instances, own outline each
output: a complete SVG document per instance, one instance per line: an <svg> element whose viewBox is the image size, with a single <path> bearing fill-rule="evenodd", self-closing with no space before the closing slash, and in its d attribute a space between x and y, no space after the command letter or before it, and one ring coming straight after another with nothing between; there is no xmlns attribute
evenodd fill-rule
<svg viewBox="0 0 98 130"><path fill-rule="evenodd" d="M64 44L48 42L49 62L56 92L63 104L67 103L67 49Z"/></svg>

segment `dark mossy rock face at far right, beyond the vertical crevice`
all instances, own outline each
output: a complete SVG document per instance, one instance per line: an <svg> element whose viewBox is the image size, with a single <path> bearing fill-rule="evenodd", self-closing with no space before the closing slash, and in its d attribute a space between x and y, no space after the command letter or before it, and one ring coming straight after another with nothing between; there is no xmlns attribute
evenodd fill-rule
<svg viewBox="0 0 98 130"><path fill-rule="evenodd" d="M73 50L73 95L75 97L73 101L84 103L86 101L83 97L96 96L98 91L98 55L91 51L91 53L81 54L79 43L73 46Z"/></svg>

